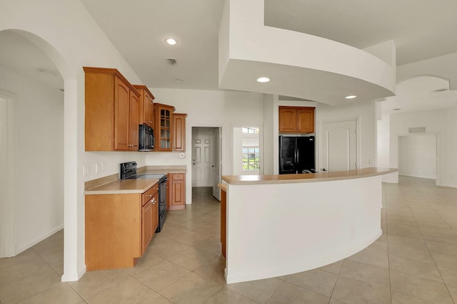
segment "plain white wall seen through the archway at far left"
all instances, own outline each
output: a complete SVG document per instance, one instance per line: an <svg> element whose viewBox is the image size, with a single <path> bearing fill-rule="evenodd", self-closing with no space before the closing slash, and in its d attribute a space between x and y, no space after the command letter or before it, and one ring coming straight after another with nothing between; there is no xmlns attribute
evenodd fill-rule
<svg viewBox="0 0 457 304"><path fill-rule="evenodd" d="M14 253L64 227L64 93L0 67L13 93ZM5 189L6 190L6 189Z"/></svg>

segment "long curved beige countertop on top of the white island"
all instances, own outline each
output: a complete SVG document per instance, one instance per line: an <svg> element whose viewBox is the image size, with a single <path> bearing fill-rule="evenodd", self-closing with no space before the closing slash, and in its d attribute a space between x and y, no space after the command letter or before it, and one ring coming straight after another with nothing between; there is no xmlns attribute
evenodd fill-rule
<svg viewBox="0 0 457 304"><path fill-rule="evenodd" d="M290 184L303 182L328 182L343 179L359 179L397 172L393 168L370 167L338 172L281 175L224 175L222 179L228 184Z"/></svg>

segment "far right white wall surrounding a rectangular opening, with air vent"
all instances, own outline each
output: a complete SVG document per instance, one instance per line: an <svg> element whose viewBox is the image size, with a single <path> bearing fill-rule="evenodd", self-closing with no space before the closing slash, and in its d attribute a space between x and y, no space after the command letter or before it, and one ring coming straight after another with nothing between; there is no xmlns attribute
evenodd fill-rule
<svg viewBox="0 0 457 304"><path fill-rule="evenodd" d="M391 115L390 167L398 168L398 136L408 135L409 127L438 135L437 184L457 187L457 108Z"/></svg>

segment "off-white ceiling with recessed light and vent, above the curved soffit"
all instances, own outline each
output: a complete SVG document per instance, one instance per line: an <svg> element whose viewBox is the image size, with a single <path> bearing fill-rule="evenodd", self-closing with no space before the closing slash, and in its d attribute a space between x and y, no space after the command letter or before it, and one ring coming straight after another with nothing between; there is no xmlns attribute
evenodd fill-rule
<svg viewBox="0 0 457 304"><path fill-rule="evenodd" d="M149 88L219 89L218 33L224 0L81 3ZM397 65L405 65L457 52L453 33L457 28L456 12L455 0L266 0L264 16L266 26L301 31L356 48L392 40L396 44ZM0 65L29 73L30 77L51 77L46 72L37 73L55 70L37 56L31 56L40 62L29 62L29 72L21 67L21 63L28 62L24 60L26 51L18 53L14 49L26 48L24 38L0 34L2 48L9 46L9 50L0 50ZM164 41L167 37L174 37L179 43L169 46ZM11 61L9 56L18 58L18 54L21 60ZM166 58L176 59L176 65L170 65ZM423 85L423 79L418 85ZM453 92L445 93L454 98ZM455 100L457 96L448 106L456 106ZM395 106L392 100L390 103ZM414 110L413 103L402 107Z"/></svg>

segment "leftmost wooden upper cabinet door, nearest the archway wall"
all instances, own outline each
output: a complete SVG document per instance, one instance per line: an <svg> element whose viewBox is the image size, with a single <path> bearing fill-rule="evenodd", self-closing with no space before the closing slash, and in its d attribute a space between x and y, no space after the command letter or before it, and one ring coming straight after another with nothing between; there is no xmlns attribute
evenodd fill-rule
<svg viewBox="0 0 457 304"><path fill-rule="evenodd" d="M129 150L130 89L114 78L114 150ZM137 131L138 132L138 131ZM138 144L138 142L137 142Z"/></svg>

